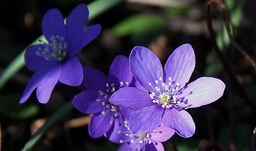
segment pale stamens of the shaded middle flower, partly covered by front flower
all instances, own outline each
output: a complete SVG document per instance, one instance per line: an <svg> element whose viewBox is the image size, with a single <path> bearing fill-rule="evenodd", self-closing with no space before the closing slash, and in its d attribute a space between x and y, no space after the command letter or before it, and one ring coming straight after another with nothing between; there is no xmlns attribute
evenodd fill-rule
<svg viewBox="0 0 256 151"><path fill-rule="evenodd" d="M127 87L128 84L129 84L128 82L125 82L125 84L124 84L124 82L121 81L121 82L120 82L120 86L119 86L118 89ZM112 84L106 83L106 87L107 87L107 89L106 89L105 92L103 92L102 90L99 90L99 91L98 91L98 93L99 93L101 96L104 96L104 98L103 98L103 99L97 99L96 101L97 101L97 102L101 102L101 105L102 105L102 106L105 106L105 108L103 109L103 111L101 111L101 114L102 114L102 115L106 115L106 111L105 111L106 109L110 109L110 110L113 112L113 113L112 113L112 116L111 116L111 120L110 120L110 124L112 124L114 118L118 116L118 113L119 113L119 106L110 103L109 98L110 98L110 96L111 96L116 90L118 90L118 89L115 88L114 83L112 83Z"/></svg>

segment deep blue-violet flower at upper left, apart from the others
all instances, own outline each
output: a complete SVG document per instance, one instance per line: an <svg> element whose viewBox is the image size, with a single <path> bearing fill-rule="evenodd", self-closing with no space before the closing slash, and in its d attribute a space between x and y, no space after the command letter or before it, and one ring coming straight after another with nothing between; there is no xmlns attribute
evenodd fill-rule
<svg viewBox="0 0 256 151"><path fill-rule="evenodd" d="M82 82L82 65L75 56L101 31L100 25L92 25L83 30L89 11L85 4L78 5L66 19L58 9L50 9L42 20L42 32L47 43L35 44L27 48L25 62L27 68L36 73L29 80L20 103L25 102L37 88L37 99L47 103L56 83L79 86Z"/></svg>

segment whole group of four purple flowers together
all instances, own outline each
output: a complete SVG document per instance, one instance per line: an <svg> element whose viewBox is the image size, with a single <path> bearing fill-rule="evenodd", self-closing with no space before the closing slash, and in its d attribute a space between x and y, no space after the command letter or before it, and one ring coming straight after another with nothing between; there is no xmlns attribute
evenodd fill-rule
<svg viewBox="0 0 256 151"><path fill-rule="evenodd" d="M57 9L42 20L47 42L27 48L27 68L36 71L20 99L25 102L37 89L40 103L47 103L58 81L86 89L73 98L73 105L85 114L91 137L105 136L122 143L118 151L164 151L161 142L176 132L182 137L195 133L187 108L200 107L219 99L225 84L201 77L190 84L195 55L190 44L174 50L164 70L158 57L146 47L136 46L129 59L118 55L108 77L99 70L82 67L75 56L101 31L100 25L83 29L89 12L78 5L64 23Z"/></svg>

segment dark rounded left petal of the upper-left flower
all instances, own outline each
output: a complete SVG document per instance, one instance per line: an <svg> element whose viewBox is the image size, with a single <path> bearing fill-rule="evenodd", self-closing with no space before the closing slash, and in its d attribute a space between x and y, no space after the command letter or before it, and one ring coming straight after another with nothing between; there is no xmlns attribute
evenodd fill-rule
<svg viewBox="0 0 256 151"><path fill-rule="evenodd" d="M49 65L54 65L58 61L46 61L42 56L38 56L36 52L38 48L41 47L44 49L46 46L43 44L31 45L27 48L25 53L25 63L29 70L38 71L43 68L47 68Z"/></svg>

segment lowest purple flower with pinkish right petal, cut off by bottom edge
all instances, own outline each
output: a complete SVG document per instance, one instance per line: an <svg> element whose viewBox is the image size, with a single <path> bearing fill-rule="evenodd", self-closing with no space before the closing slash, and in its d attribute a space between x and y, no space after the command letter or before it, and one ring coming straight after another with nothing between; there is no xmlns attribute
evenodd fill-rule
<svg viewBox="0 0 256 151"><path fill-rule="evenodd" d="M122 143L117 151L165 151L161 142L171 138L175 131L162 123L153 132L142 135L134 134L128 128L127 119L131 113L129 112L125 118L118 120L113 130L105 134L111 142Z"/></svg>

